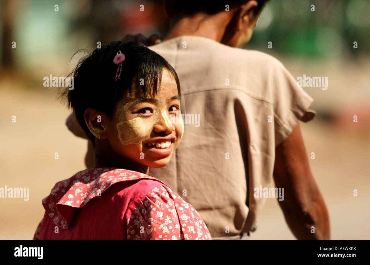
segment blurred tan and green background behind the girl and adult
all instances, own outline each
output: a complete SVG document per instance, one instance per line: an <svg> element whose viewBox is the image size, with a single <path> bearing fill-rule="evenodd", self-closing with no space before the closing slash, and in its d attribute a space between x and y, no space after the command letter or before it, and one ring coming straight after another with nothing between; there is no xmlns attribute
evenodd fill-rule
<svg viewBox="0 0 370 265"><path fill-rule="evenodd" d="M43 78L63 76L81 48L92 51L98 41L126 34L165 35L169 23L161 1L144 0L2 0L0 19L0 187L30 188L28 201L0 198L0 239L32 239L44 214L41 200L85 168L87 149L68 131L70 111ZM317 117L301 129L307 155L315 153L309 162L332 239L370 239L369 32L368 0L270 1L243 47L276 57L295 78L328 77L327 90L303 88ZM252 239L295 238L275 198L257 224Z"/></svg>

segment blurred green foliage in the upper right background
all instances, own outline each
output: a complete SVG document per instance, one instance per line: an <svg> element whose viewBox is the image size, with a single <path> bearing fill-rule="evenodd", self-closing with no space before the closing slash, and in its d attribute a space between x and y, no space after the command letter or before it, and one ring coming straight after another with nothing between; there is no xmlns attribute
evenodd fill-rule
<svg viewBox="0 0 370 265"><path fill-rule="evenodd" d="M270 1L246 47L267 51L271 41L275 52L287 55L356 59L369 53L369 32L367 0Z"/></svg>

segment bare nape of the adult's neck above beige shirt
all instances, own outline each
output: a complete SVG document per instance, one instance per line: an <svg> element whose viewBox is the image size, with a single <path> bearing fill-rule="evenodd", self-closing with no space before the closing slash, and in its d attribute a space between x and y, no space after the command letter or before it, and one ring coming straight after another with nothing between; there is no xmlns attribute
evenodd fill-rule
<svg viewBox="0 0 370 265"><path fill-rule="evenodd" d="M200 13L193 17L184 17L174 24L163 41L187 35L221 42L228 23L228 17L222 13L213 16Z"/></svg>

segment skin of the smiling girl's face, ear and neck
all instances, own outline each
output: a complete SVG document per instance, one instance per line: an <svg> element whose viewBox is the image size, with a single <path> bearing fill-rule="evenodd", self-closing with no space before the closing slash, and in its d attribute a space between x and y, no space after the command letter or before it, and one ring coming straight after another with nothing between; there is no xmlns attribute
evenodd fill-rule
<svg viewBox="0 0 370 265"><path fill-rule="evenodd" d="M148 174L149 167L169 163L181 141L184 124L181 119L179 123L170 120L171 114L181 113L180 99L176 81L166 70L157 91L154 97L144 98L134 90L117 103L112 119L86 109L85 122L95 135L95 168L119 167ZM97 121L98 115L101 122ZM146 145L164 141L171 141L171 145L159 151Z"/></svg>

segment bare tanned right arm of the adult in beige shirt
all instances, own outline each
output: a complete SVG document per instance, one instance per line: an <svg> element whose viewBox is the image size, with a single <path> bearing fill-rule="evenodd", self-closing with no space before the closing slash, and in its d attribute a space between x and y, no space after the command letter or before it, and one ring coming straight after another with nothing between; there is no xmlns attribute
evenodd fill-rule
<svg viewBox="0 0 370 265"><path fill-rule="evenodd" d="M310 170L299 123L275 151L274 180L285 190L279 205L290 230L297 239L329 239L329 215Z"/></svg>

